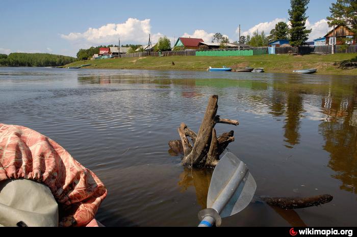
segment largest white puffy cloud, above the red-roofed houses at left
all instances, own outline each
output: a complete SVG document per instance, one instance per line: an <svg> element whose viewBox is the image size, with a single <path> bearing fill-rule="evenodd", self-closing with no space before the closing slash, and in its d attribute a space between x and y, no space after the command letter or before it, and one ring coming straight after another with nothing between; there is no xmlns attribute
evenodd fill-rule
<svg viewBox="0 0 357 237"><path fill-rule="evenodd" d="M147 43L150 34L151 25L150 19L139 20L136 18L129 18L124 23L106 24L99 28L88 28L83 33L69 33L68 35L61 35L63 39L81 43L81 44L115 44L120 37L121 42L136 42ZM157 33L152 35L156 40L162 36ZM154 41L152 40L152 41Z"/></svg>

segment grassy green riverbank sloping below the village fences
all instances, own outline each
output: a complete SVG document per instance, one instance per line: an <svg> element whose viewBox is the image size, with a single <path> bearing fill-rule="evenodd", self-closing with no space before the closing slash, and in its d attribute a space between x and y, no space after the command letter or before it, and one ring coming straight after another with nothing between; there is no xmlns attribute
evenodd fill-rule
<svg viewBox="0 0 357 237"><path fill-rule="evenodd" d="M328 55L254 55L239 57L170 56L170 57L122 57L103 60L77 61L65 67L92 64L94 69L167 69L207 70L208 67L265 68L267 73L292 73L293 70L317 68L319 74L357 75L357 69L343 69L341 63L356 60L357 53ZM172 64L174 63L174 65Z"/></svg>

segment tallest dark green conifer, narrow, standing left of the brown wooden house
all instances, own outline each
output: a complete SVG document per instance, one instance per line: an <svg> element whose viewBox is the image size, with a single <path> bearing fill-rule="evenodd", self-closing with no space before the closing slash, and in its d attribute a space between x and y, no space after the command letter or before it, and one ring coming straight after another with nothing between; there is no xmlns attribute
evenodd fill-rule
<svg viewBox="0 0 357 237"><path fill-rule="evenodd" d="M290 0L291 9L288 11L290 16L290 44L292 46L303 45L309 39L311 29L305 26L308 17L305 12L308 10L310 0Z"/></svg>

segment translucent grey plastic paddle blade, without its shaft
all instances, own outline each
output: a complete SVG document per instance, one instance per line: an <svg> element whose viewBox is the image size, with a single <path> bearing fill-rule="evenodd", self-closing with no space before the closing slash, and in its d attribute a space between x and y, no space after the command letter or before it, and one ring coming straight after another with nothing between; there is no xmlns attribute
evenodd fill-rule
<svg viewBox="0 0 357 237"><path fill-rule="evenodd" d="M237 173L244 174L243 179L239 179ZM238 182L240 183L238 184ZM236 190L233 190L232 195L220 195L226 193L227 187L231 188L232 183L237 184L235 186ZM213 172L208 191L207 208L212 208L213 203L216 201L223 202L225 205L222 210L216 210L220 216L224 218L235 215L246 208L256 189L257 184L246 165L234 154L228 152L218 162Z"/></svg>

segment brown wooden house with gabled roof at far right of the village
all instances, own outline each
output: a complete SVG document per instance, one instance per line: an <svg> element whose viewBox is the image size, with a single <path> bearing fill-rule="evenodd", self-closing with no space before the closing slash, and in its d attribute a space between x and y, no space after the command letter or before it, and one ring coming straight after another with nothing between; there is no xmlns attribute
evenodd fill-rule
<svg viewBox="0 0 357 237"><path fill-rule="evenodd" d="M326 44L328 45L341 45L344 44L342 41L345 38L346 44L356 44L355 34L351 31L348 26L338 25L332 31L327 33L325 36ZM334 38L335 37L335 38Z"/></svg>

